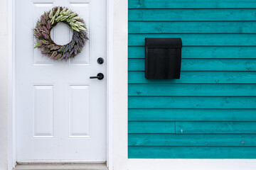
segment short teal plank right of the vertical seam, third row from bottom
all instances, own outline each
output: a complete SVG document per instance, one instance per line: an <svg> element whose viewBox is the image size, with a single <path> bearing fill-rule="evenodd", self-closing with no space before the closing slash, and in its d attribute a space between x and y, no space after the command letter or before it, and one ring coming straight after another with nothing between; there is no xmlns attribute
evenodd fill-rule
<svg viewBox="0 0 256 170"><path fill-rule="evenodd" d="M176 122L176 133L252 133L256 132L256 122Z"/></svg>

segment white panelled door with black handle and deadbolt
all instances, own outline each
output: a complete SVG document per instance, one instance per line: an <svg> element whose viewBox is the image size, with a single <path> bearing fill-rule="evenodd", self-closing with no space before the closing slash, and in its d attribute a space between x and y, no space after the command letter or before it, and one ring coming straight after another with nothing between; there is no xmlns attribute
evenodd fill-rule
<svg viewBox="0 0 256 170"><path fill-rule="evenodd" d="M73 60L53 61L33 49L32 28L44 11L66 6L77 11L89 42ZM16 145L18 162L103 162L106 160L106 1L16 0ZM64 45L65 24L52 30Z"/></svg>

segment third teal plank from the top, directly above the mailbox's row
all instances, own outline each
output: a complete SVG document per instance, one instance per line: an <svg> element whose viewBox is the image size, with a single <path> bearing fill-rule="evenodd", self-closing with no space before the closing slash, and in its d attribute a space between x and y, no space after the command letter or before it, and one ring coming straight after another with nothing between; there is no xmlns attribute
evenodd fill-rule
<svg viewBox="0 0 256 170"><path fill-rule="evenodd" d="M256 15L255 15L256 16ZM255 21L129 21L128 33L256 33Z"/></svg>

